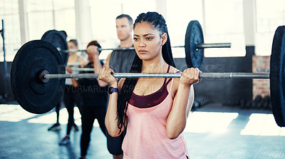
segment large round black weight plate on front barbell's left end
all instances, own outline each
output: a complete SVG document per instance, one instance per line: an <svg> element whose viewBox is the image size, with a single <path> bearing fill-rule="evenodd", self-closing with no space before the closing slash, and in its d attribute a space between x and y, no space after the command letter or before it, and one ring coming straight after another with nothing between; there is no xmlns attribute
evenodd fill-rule
<svg viewBox="0 0 285 159"><path fill-rule="evenodd" d="M47 113L61 101L65 79L40 80L39 74L65 73L58 50L46 41L29 41L21 46L11 66L11 88L19 105L30 113Z"/></svg>

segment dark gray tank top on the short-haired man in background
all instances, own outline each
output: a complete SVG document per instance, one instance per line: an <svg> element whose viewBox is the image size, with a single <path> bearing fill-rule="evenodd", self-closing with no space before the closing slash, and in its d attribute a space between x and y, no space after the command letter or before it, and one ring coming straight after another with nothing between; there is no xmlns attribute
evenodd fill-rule
<svg viewBox="0 0 285 159"><path fill-rule="evenodd" d="M115 73L128 73L135 58L135 50L115 50L111 53L109 65Z"/></svg>

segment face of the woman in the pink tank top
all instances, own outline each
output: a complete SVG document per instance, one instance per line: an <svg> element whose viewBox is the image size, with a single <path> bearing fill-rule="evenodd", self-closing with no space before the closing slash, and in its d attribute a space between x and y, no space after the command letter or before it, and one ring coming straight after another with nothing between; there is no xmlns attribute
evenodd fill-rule
<svg viewBox="0 0 285 159"><path fill-rule="evenodd" d="M152 25L142 21L135 25L134 46L140 59L149 61L162 57L162 46L165 44L166 34L160 36L160 31L152 29Z"/></svg>

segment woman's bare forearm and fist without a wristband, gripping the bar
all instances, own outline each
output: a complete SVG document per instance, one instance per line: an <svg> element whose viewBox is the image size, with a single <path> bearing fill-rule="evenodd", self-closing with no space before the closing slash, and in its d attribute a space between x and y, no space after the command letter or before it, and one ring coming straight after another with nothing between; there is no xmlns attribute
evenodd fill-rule
<svg viewBox="0 0 285 159"><path fill-rule="evenodd" d="M180 82L175 93L172 109L167 118L167 136L170 139L177 138L185 128L186 121L192 103L194 101L193 83L199 80L199 70L188 68L180 78Z"/></svg>

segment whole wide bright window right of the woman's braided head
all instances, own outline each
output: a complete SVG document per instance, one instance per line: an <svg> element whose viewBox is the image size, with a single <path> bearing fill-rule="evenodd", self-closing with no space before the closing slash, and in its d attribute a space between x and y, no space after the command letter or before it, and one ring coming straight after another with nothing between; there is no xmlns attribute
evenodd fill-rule
<svg viewBox="0 0 285 159"><path fill-rule="evenodd" d="M172 46L185 45L187 25L197 20L202 26L204 43L232 43L232 48L206 48L204 56L244 56L242 7L242 0L183 0L179 3L167 0L167 26ZM185 58L184 48L172 51L175 58Z"/></svg>

